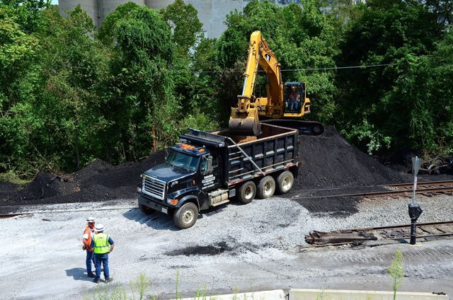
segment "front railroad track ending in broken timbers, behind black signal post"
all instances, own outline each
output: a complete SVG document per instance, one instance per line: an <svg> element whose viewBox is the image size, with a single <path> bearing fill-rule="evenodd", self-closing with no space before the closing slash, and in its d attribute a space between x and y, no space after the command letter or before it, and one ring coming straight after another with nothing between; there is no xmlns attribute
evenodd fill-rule
<svg viewBox="0 0 453 300"><path fill-rule="evenodd" d="M427 241L429 238L445 238L452 236L453 221L417 224L418 241ZM361 229L344 229L331 232L312 231L305 236L305 241L311 245L308 248L311 248L341 246L367 241L405 241L409 238L411 238L411 224Z"/></svg>

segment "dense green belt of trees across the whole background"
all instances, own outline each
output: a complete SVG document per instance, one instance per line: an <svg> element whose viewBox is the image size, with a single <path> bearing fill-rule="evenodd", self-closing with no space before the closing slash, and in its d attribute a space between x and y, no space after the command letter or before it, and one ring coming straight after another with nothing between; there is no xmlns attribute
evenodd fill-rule
<svg viewBox="0 0 453 300"><path fill-rule="evenodd" d="M62 18L50 1L0 0L0 173L135 161L187 127L225 127L254 30L284 80L306 82L312 119L370 154L451 154L452 1L329 2L254 0L209 39L183 0L118 6L101 28L80 6Z"/></svg>

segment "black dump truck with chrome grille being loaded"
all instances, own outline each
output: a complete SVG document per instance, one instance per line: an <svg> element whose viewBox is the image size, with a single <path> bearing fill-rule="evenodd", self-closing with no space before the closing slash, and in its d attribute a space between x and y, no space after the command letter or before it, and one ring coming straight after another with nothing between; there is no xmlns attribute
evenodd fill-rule
<svg viewBox="0 0 453 300"><path fill-rule="evenodd" d="M256 195L288 192L301 164L299 134L264 123L261 132L259 137L238 137L228 130L189 129L168 149L166 163L142 174L139 209L144 214L173 214L174 224L186 229L195 224L200 210L232 197L247 204Z"/></svg>

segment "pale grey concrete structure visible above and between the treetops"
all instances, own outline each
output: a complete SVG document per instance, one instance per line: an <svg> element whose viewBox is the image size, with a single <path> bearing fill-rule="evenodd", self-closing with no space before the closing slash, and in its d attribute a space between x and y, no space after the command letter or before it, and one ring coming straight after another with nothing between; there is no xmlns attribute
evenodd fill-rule
<svg viewBox="0 0 453 300"><path fill-rule="evenodd" d="M120 4L133 1L139 5L161 10L174 0L59 0L59 13L67 16L65 11L70 11L78 4L91 16L94 25L100 27L103 19L115 10ZM198 18L203 23L206 37L219 37L226 29L225 19L230 11L237 9L242 11L251 0L184 0L186 4L192 4L198 11ZM299 3L300 0L271 0L275 4L284 5L291 2Z"/></svg>

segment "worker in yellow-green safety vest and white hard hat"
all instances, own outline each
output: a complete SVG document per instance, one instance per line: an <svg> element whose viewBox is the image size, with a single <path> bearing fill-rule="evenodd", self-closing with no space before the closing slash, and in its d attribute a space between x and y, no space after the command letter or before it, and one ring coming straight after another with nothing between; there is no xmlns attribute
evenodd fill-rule
<svg viewBox="0 0 453 300"><path fill-rule="evenodd" d="M110 277L110 270L108 270L108 253L113 251L113 239L104 233L103 224L97 224L94 230L96 235L91 238L91 248L93 248L94 260L96 261L96 277L94 277L93 282L99 283L101 279L101 264L104 267L105 282L110 282L112 277Z"/></svg>

